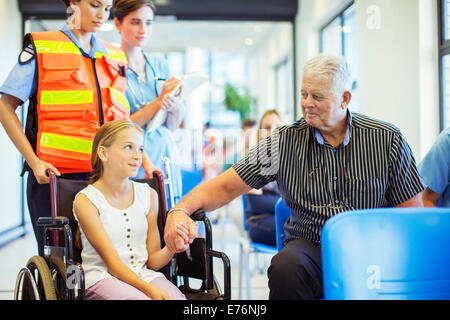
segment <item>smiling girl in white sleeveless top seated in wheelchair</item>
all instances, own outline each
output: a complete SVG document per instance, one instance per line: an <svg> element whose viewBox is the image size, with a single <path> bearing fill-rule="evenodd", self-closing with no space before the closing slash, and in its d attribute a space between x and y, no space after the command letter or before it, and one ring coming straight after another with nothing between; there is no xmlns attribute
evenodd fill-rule
<svg viewBox="0 0 450 320"><path fill-rule="evenodd" d="M88 300L185 299L154 271L174 253L160 245L156 192L130 180L141 166L143 144L142 129L124 120L103 125L95 136L90 184L73 203ZM183 225L178 231L187 234Z"/></svg>

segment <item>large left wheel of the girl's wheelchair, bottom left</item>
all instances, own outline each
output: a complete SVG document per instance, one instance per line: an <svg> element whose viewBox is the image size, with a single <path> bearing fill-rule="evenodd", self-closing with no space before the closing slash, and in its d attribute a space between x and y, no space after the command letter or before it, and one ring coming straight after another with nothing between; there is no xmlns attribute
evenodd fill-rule
<svg viewBox="0 0 450 320"><path fill-rule="evenodd" d="M56 300L52 274L45 259L40 256L33 256L28 260L25 269L29 272L25 272L26 276L23 278L22 300ZM19 285L16 285L16 290L19 289ZM36 288L38 296L36 296L36 290L34 290ZM16 293L16 298L17 296L18 293Z"/></svg>

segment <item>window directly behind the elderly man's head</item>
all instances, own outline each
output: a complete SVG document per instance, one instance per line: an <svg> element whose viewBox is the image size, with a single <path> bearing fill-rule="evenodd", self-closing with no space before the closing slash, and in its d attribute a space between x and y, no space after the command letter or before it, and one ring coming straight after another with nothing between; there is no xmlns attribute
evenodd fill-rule
<svg viewBox="0 0 450 320"><path fill-rule="evenodd" d="M450 1L450 0L449 0ZM358 110L358 33L356 5L350 4L320 30L320 52L344 56L351 72L351 110Z"/></svg>

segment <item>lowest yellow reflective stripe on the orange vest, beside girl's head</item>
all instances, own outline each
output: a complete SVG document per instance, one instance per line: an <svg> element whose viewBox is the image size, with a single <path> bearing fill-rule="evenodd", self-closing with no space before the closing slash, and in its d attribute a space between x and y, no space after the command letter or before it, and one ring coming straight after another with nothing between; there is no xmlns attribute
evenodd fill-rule
<svg viewBox="0 0 450 320"><path fill-rule="evenodd" d="M91 154L91 140L68 137L54 133L42 132L40 145L47 148Z"/></svg>

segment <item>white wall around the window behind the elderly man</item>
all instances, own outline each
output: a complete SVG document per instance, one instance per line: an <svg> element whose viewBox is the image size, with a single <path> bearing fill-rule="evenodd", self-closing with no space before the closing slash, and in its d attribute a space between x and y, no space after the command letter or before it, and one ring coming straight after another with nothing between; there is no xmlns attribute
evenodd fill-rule
<svg viewBox="0 0 450 320"><path fill-rule="evenodd" d="M439 131L436 1L355 2L359 112L398 126L420 161ZM299 2L297 90L301 87L301 69L319 53L320 28L348 3ZM379 10L379 28L373 20L377 17L368 13L371 6Z"/></svg>

